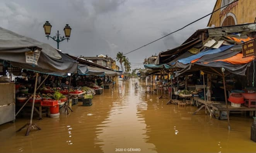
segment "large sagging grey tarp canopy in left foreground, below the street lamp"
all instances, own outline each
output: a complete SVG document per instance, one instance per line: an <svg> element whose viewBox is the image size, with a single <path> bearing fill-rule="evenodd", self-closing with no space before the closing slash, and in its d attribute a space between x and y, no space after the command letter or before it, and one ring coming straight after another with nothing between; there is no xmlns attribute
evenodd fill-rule
<svg viewBox="0 0 256 153"><path fill-rule="evenodd" d="M36 63L27 63L26 55L39 54ZM20 36L0 27L0 59L10 61L15 67L46 73L50 75L67 76L67 73L77 73L78 62L57 51L49 44L32 38Z"/></svg>

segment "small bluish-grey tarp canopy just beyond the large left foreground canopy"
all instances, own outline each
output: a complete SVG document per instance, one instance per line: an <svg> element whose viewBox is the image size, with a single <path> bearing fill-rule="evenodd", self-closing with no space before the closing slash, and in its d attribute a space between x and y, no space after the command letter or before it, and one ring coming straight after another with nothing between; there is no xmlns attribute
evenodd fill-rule
<svg viewBox="0 0 256 153"><path fill-rule="evenodd" d="M96 71L92 70L91 66L79 64L78 66L78 74L79 75L96 75L96 76L104 76L104 71Z"/></svg>

